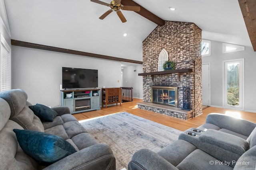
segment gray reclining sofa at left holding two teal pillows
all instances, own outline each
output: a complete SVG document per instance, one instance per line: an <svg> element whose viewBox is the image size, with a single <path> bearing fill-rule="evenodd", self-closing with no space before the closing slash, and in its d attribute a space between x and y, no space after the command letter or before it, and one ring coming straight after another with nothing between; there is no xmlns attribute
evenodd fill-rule
<svg viewBox="0 0 256 170"><path fill-rule="evenodd" d="M87 133L86 129L80 125L76 118L70 114L68 107L54 107L53 121L41 121L34 114L29 106L26 92L21 89L8 90L0 93L0 169L1 170L115 170L116 159L110 147L105 144L98 143L94 137ZM13 130L17 129L17 130ZM17 133L35 132L35 138L21 135L19 139ZM27 129L29 131L26 131ZM15 131L15 133L14 133ZM59 144L54 143L53 147L57 154L65 151L65 156L53 162L44 162L36 160L28 156L30 150L24 151L22 147L27 147L28 141L34 145L32 151L39 150L33 139L37 139L40 135L52 134L59 136L61 145L65 145L64 149ZM27 137L24 139L24 137ZM42 139L43 141L43 139ZM25 145L20 144L25 142ZM37 141L37 142L40 142ZM48 142L46 140L46 142ZM61 148L61 149L60 149ZM72 148L73 151L66 151L66 148ZM75 149L75 150L74 150ZM60 151L61 150L61 151ZM55 150L54 150L55 151ZM28 154L26 154L26 153ZM41 153L41 151L40 151ZM37 153L36 153L37 154ZM51 153L52 154L52 153Z"/></svg>

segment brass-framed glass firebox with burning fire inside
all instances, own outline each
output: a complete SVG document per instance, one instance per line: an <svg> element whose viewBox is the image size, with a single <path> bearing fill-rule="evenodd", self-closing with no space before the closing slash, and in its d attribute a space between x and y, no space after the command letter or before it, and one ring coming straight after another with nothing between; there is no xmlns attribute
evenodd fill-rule
<svg viewBox="0 0 256 170"><path fill-rule="evenodd" d="M152 86L151 102L178 107L178 87Z"/></svg>

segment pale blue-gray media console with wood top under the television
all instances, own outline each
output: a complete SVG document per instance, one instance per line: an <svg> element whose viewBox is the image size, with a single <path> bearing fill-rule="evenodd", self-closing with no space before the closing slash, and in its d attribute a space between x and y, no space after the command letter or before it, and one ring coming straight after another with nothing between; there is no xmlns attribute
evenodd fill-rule
<svg viewBox="0 0 256 170"><path fill-rule="evenodd" d="M100 89L61 90L61 106L67 106L71 114L100 110ZM95 94L98 94L95 96Z"/></svg>

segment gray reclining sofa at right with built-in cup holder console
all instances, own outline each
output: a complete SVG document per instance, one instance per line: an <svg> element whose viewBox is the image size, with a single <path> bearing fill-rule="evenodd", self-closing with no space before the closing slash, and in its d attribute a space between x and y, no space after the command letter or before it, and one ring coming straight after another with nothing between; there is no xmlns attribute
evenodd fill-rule
<svg viewBox="0 0 256 170"><path fill-rule="evenodd" d="M211 113L158 152L134 153L129 170L255 170L256 124Z"/></svg>

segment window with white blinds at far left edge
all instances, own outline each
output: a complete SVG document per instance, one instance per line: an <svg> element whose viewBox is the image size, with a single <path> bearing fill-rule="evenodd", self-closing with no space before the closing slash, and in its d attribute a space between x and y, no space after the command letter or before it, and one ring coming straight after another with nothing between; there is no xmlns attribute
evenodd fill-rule
<svg viewBox="0 0 256 170"><path fill-rule="evenodd" d="M11 50L4 37L0 37L0 92L11 89Z"/></svg>

